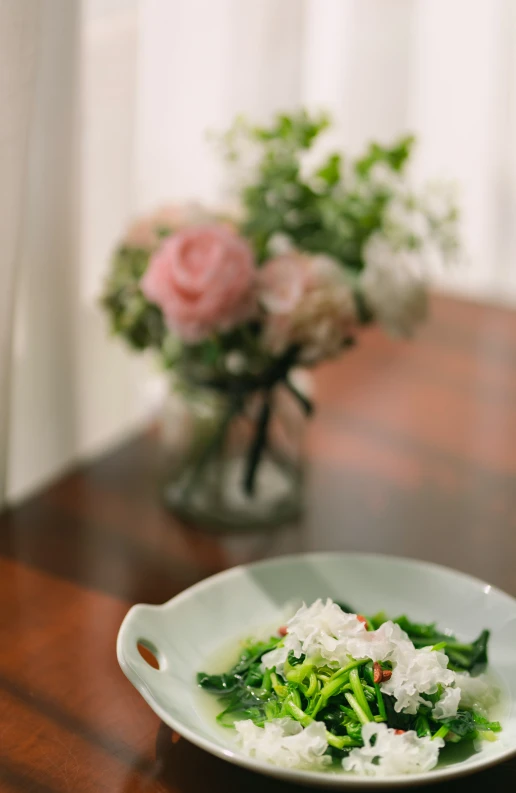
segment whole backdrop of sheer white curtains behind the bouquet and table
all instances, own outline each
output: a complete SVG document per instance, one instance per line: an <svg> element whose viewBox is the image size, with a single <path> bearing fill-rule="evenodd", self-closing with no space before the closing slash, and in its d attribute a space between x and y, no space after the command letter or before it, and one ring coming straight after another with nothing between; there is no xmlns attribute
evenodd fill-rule
<svg viewBox="0 0 516 793"><path fill-rule="evenodd" d="M462 193L441 287L516 301L515 44L513 0L0 0L0 491L153 408L98 309L107 258L134 213L224 194L205 133L237 113L325 107L352 152L415 131L416 175Z"/></svg>

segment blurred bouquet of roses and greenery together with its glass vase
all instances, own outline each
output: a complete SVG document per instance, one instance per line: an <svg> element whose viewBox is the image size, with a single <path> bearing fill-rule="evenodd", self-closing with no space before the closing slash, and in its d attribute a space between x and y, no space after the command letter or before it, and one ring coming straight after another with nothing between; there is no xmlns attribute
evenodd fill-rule
<svg viewBox="0 0 516 793"><path fill-rule="evenodd" d="M373 321L409 335L428 274L457 249L448 188L414 192L406 178L412 138L311 167L327 126L304 111L237 122L223 144L232 167L248 165L238 212L164 207L113 257L102 302L114 332L158 352L195 419L167 503L205 525L298 515L300 424L286 399L306 415L312 404L293 372L340 355Z"/></svg>

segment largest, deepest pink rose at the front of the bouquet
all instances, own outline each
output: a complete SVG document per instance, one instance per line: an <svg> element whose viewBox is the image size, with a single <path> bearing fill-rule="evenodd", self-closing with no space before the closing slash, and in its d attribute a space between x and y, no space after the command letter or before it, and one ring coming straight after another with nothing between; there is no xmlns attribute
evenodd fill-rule
<svg viewBox="0 0 516 793"><path fill-rule="evenodd" d="M168 327L197 342L227 331L256 310L255 267L246 240L227 226L195 226L167 237L141 281Z"/></svg>

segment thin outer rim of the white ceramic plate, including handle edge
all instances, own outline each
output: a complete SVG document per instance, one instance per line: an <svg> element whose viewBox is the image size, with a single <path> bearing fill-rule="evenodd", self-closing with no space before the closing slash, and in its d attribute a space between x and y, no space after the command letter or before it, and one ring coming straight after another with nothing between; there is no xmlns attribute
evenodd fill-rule
<svg viewBox="0 0 516 793"><path fill-rule="evenodd" d="M308 551L305 553L291 553L291 554L280 554L270 559L260 559L258 561L250 562L248 564L240 564L235 565L233 567L229 567L226 570L221 570L218 573L214 573L207 578L202 579L201 581L197 581L195 584L187 587L183 591L179 592L177 595L174 595L169 600L165 601L161 604L145 604L145 603L138 603L133 605L127 614L125 615L122 624L120 626L118 636L117 636L117 643L116 643L116 651L117 651L117 658L120 668L122 669L125 676L128 680L132 683L132 685L136 688L136 690L141 694L143 699L147 702L149 707L156 713L157 716L169 727L176 730L181 736L186 738L188 741L193 743L195 746L198 746L200 749L209 752L210 754L214 755L215 757L219 757L222 760L227 760L235 765L238 765L242 768L247 768L250 771L254 771L260 774L266 774L267 776L273 776L278 779L282 779L284 781L295 782L301 785L317 785L319 787L326 787L326 788L358 788L361 787L363 789L369 788L394 788L400 786L416 786L416 785L425 785L431 784L432 782L438 783L442 782L446 779L453 779L459 778L464 776L469 776L477 771L481 771L484 769L492 768L495 765L499 765L511 757L516 755L516 742L514 746L508 747L504 750L501 754L497 755L496 757L486 758L482 760L480 757L477 762L473 762L467 764L465 766L462 765L449 765L443 768L433 769L431 771L426 771L422 774L403 774L403 775L396 775L396 776L389 776L389 777L360 777L355 775L347 775L347 774L329 774L325 771L305 771L302 769L294 769L294 768L284 768L282 766L275 766L271 763L267 763L266 761L256 760L252 757L247 757L246 755L240 754L238 752L234 752L229 748L223 748L218 746L215 742L204 738L203 736L196 733L194 730L190 729L187 725L185 725L180 719L176 718L170 711L163 708L159 702L157 702L152 692L147 687L147 684L139 677L139 675L130 667L127 663L125 654L124 654L124 643L127 633L127 627L131 620L131 615L136 609L140 609L142 606L147 609L152 610L160 610L166 611L171 606L179 605L181 602L185 600L189 600L192 597L195 597L196 593L209 588L213 585L214 581L218 581L221 578L231 578L238 573L253 569L256 567L262 566L273 566L275 564L280 564L289 561L296 561L296 560L310 560L310 559L318 559L323 560L324 558L335 560L337 558L362 558L368 560L388 560L390 562L400 562L402 564L407 564L409 566L416 566L422 568L431 568L437 572L452 574L454 577L459 577L464 581L468 581L475 586L480 586L481 588L489 587L489 592L493 592L499 597L502 597L504 600L507 600L516 610L516 598L510 595L508 592L500 589L499 587L489 584L487 581L484 581L481 578L477 578L476 576L470 575L469 573L464 573L461 570L455 570L454 568L447 567L446 565L438 564L436 562L429 562L423 559L416 559L413 557L408 556L398 556L394 554L384 554L384 553L368 553L362 551ZM156 670L153 670L156 671ZM159 672L158 672L159 674ZM511 703L511 705L513 705ZM512 711L512 707L511 707Z"/></svg>

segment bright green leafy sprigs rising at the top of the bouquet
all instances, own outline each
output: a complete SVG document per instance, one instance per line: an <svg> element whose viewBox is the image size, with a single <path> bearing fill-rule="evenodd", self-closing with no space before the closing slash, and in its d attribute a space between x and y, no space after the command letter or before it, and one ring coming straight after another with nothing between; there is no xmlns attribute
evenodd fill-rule
<svg viewBox="0 0 516 793"><path fill-rule="evenodd" d="M271 238L287 234L301 250L333 256L350 275L362 269L362 246L381 226L388 200L385 189L367 189L369 172L377 163L401 172L414 139L402 138L392 146L371 144L363 157L349 164L352 180L346 179L346 162L339 152L330 153L306 174L302 159L328 125L326 116L300 111L277 116L269 127L246 127L240 121L240 136L236 130L228 135L232 160L238 159L239 141L245 149L242 137L258 149L256 178L244 185L241 199L246 210L242 230L260 261L270 254Z"/></svg>

